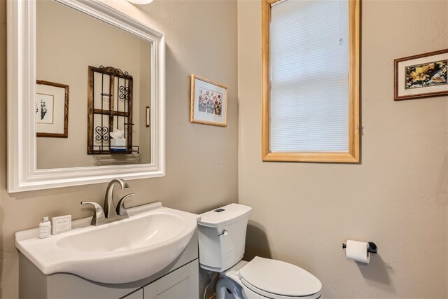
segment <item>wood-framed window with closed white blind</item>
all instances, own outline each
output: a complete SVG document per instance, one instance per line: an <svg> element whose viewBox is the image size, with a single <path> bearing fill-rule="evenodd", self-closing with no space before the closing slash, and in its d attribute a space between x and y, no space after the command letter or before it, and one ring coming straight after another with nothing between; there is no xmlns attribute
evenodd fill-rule
<svg viewBox="0 0 448 299"><path fill-rule="evenodd" d="M263 0L262 160L359 161L359 0Z"/></svg>

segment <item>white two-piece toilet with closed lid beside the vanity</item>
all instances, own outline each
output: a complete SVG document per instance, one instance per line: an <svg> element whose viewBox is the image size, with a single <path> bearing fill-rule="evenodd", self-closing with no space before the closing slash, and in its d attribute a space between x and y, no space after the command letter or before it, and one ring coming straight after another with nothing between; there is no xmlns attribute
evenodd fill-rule
<svg viewBox="0 0 448 299"><path fill-rule="evenodd" d="M258 256L241 260L250 211L228 204L201 215L199 260L203 269L220 273L216 298L319 298L321 281L301 267Z"/></svg>

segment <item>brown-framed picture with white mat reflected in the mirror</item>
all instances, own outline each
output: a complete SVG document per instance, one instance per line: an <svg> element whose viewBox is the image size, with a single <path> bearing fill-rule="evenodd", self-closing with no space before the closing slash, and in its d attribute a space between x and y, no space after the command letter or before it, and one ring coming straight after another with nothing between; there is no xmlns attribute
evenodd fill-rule
<svg viewBox="0 0 448 299"><path fill-rule="evenodd" d="M69 85L36 81L36 137L69 137Z"/></svg>

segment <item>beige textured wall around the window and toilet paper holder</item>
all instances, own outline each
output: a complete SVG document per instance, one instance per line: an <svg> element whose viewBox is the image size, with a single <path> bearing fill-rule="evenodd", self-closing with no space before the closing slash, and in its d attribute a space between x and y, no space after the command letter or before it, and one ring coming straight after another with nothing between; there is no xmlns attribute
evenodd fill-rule
<svg viewBox="0 0 448 299"><path fill-rule="evenodd" d="M362 160L261 162L261 6L238 1L239 202L247 251L295 263L323 298L447 298L447 97L393 101L395 58L448 48L447 1L362 1ZM376 242L369 265L342 242Z"/></svg>

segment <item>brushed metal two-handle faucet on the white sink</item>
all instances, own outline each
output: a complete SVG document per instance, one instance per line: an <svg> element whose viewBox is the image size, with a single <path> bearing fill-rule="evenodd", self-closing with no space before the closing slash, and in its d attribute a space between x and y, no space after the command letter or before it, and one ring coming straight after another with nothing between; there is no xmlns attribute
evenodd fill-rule
<svg viewBox="0 0 448 299"><path fill-rule="evenodd" d="M118 207L116 207L113 203L113 188L115 188L116 183L120 183L121 190L129 188L129 185L123 179L113 179L110 181L106 189L106 196L104 197L104 209L97 202L81 202L81 204L92 204L95 208L95 214L92 217L92 222L90 222L91 225L102 225L129 218L125 208L125 200L133 196L134 193L123 196L118 201Z"/></svg>

